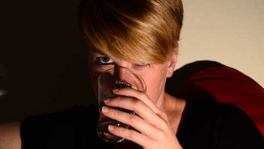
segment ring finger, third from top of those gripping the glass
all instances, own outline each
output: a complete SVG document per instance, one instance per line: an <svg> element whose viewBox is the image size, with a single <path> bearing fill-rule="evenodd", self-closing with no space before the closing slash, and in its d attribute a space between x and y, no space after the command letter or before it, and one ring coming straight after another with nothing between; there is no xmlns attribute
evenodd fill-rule
<svg viewBox="0 0 264 149"><path fill-rule="evenodd" d="M154 136L154 133L159 131L157 128L154 128L153 125L134 114L126 113L107 106L103 106L102 113L111 119L132 126L132 128L135 128L147 136Z"/></svg>

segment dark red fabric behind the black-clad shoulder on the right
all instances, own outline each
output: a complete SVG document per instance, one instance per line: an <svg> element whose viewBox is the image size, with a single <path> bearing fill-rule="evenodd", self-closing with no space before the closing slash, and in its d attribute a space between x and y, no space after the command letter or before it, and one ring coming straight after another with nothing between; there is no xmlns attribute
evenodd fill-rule
<svg viewBox="0 0 264 149"><path fill-rule="evenodd" d="M264 135L264 88L250 77L228 67L213 67L193 75L177 97L196 96L240 107Z"/></svg>

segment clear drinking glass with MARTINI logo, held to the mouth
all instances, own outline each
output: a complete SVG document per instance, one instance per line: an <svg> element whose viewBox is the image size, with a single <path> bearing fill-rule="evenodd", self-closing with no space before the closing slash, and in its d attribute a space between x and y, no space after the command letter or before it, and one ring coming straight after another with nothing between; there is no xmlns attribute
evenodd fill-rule
<svg viewBox="0 0 264 149"><path fill-rule="evenodd" d="M102 114L102 107L105 106L104 100L108 97L114 97L112 90L114 88L122 88L122 87L132 87L133 89L137 89L143 92L146 92L146 84L144 80L137 75L135 72L132 72L128 68L117 67L111 68L104 71L97 80L97 89L98 89L98 105L99 105L99 120L97 125L97 134L98 136L111 143L118 143L124 140L124 138L115 136L108 131L109 125L114 125L118 127L128 128L129 126L118 122L116 120L110 119ZM125 111L128 113L134 114L133 111L111 107L121 111Z"/></svg>

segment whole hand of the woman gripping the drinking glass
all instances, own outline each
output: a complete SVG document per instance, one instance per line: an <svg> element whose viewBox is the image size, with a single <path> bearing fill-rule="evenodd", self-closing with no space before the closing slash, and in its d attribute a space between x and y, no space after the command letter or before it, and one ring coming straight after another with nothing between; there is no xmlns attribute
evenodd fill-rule
<svg viewBox="0 0 264 149"><path fill-rule="evenodd" d="M176 135L162 112L147 94L129 88L113 90L119 95L106 99L102 113L112 119L130 125L137 131L116 126L109 126L109 131L122 138L131 140L144 149L182 149ZM116 106L134 111L137 115L110 108Z"/></svg>

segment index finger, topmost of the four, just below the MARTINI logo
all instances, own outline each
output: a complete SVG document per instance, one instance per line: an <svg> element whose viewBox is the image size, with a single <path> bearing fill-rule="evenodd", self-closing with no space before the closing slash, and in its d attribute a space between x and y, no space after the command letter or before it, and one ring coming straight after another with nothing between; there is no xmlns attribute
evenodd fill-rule
<svg viewBox="0 0 264 149"><path fill-rule="evenodd" d="M130 87L118 88L117 90L113 90L113 93L116 95L129 96L139 99L148 105L156 114L165 119L164 113L155 105L146 93Z"/></svg>

